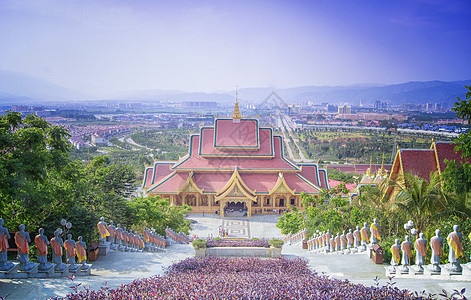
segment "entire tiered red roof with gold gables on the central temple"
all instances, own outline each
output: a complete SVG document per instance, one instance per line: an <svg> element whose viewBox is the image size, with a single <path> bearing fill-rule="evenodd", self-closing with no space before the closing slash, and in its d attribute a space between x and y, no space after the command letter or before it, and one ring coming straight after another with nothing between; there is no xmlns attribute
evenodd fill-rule
<svg viewBox="0 0 471 300"><path fill-rule="evenodd" d="M237 107L236 107L237 108ZM234 111L234 115L239 112ZM214 126L190 136L188 154L177 162L155 162L144 174L149 193L176 194L192 189L204 194L233 192L234 182L245 197L317 194L328 188L327 172L317 164L295 164L284 156L283 138L253 118L218 118ZM229 188L231 187L231 188Z"/></svg>

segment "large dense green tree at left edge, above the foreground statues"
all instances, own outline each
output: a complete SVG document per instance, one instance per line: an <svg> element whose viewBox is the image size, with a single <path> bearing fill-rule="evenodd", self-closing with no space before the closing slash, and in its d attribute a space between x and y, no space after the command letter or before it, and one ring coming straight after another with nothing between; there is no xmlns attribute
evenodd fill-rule
<svg viewBox="0 0 471 300"><path fill-rule="evenodd" d="M34 114L0 116L0 210L13 228L34 230L72 201L67 138L63 127Z"/></svg>

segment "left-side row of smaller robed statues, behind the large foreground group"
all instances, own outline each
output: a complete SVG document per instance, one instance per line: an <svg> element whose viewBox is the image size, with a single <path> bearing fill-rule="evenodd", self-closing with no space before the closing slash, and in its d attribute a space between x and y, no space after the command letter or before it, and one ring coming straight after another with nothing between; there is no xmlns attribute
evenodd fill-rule
<svg viewBox="0 0 471 300"><path fill-rule="evenodd" d="M137 231L127 230L121 227L121 224L113 225L110 221L107 225L104 217L100 218L97 224L99 232L99 246L109 246L111 249L129 252L161 252L165 251L165 238L155 232L154 229L148 229L139 234Z"/></svg>

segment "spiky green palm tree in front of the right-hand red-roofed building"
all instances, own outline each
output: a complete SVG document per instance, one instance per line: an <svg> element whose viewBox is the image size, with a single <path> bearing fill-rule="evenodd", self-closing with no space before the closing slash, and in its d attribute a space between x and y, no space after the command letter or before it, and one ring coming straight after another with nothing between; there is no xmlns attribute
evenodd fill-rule
<svg viewBox="0 0 471 300"><path fill-rule="evenodd" d="M418 232L425 230L432 218L446 210L446 197L441 189L438 173L430 174L430 181L416 175L404 174L395 183L399 188L394 204L416 224Z"/></svg>

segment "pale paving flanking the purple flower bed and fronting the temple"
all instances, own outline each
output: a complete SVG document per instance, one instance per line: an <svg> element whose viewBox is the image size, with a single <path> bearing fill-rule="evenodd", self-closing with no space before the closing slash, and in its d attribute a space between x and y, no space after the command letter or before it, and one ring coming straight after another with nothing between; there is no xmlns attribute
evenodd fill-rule
<svg viewBox="0 0 471 300"><path fill-rule="evenodd" d="M220 218L214 215L189 215L196 221L192 235L206 238L216 237L219 226L228 231L229 237L249 238L281 238L280 229L275 224L278 215L254 216L252 218ZM82 287L100 289L102 287L117 287L132 282L134 279L163 275L165 268L172 263L194 256L191 245L171 245L166 253L132 253L115 251L106 257L100 257L93 262L92 276L76 277L75 283ZM302 250L301 246L284 246L282 255L288 257L301 256L309 262L309 266L319 274L325 274L354 283L367 286L375 284L374 278L380 278L379 284L386 285L388 279L384 274L384 266L375 265L364 254L314 254ZM394 279L395 286L413 291L426 290L440 293L442 289L467 288L466 296L471 297L471 282L423 280L423 279ZM12 299L46 299L52 296L65 296L72 292L72 281L69 278L53 279L0 279L0 297L10 296Z"/></svg>

